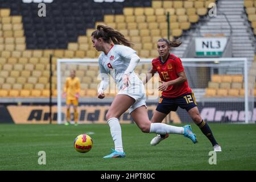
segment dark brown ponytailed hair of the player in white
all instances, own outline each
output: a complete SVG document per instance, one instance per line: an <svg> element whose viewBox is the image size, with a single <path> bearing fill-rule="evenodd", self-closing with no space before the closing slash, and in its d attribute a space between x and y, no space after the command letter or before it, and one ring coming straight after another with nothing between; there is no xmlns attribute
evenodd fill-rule
<svg viewBox="0 0 256 182"><path fill-rule="evenodd" d="M123 36L123 34L121 34L118 31L115 31L111 27L99 24L96 29L97 30L93 31L91 35L95 39L102 38L104 42L107 42L107 43L113 42L114 44L119 44L119 45L122 44L128 47L133 46L133 43L127 40L125 36Z"/></svg>

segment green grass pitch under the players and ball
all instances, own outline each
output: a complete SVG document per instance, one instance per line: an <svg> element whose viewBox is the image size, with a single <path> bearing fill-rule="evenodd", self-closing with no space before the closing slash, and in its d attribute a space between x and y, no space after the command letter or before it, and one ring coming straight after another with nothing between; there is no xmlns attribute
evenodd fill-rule
<svg viewBox="0 0 256 182"><path fill-rule="evenodd" d="M150 146L155 134L142 133L136 125L123 124L126 158L103 159L114 146L108 125L0 125L0 170L256 170L256 125L209 124L221 144L217 164L210 165L212 146L192 124L199 143L171 134ZM176 125L181 126L181 125ZM90 134L94 146L86 154L76 152L74 139ZM39 165L39 151L46 165Z"/></svg>

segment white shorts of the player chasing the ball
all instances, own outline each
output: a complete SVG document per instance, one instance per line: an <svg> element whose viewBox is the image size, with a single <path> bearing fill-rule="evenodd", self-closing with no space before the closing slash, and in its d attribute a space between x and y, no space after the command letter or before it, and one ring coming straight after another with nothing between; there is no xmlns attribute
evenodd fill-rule
<svg viewBox="0 0 256 182"><path fill-rule="evenodd" d="M131 114L132 111L141 106L146 106L146 93L143 84L135 84L135 86L129 86L125 90L119 90L118 95L127 95L134 98L135 102L128 109ZM147 107L147 106L146 106Z"/></svg>

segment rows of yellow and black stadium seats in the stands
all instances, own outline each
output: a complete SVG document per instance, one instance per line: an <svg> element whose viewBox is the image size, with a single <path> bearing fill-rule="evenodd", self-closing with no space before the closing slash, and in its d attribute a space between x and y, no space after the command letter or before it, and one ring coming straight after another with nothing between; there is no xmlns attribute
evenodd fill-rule
<svg viewBox="0 0 256 182"><path fill-rule="evenodd" d="M106 24L134 42L141 57L156 57L156 42L167 37L170 14L171 37L179 38L207 14L210 1L153 1L96 3L92 0L55 0L47 4L47 16L38 16L38 3L22 0L0 0L0 97L48 97L49 55L53 55L53 96L56 92L56 59L96 58L90 34L97 24ZM255 32L255 3L245 1L249 20ZM138 65L146 73L149 65ZM63 77L69 75L61 68ZM97 66L75 67L81 79L81 96L96 96ZM232 77L233 79L234 77ZM214 87L215 86L215 87ZM241 95L242 80L209 83L207 96ZM233 89L233 90L232 90ZM238 89L238 92L237 90ZM227 89L225 89L227 90ZM218 93L220 92L220 93ZM148 90L147 94L153 94Z"/></svg>

